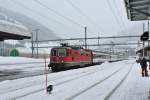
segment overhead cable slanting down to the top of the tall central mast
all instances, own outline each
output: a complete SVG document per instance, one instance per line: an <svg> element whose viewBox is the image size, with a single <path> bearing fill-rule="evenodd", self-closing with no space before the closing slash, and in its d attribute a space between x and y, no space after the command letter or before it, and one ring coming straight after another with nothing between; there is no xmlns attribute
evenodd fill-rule
<svg viewBox="0 0 150 100"><path fill-rule="evenodd" d="M70 18L68 18L68 17L66 17L66 16L64 16L64 15L62 15L62 14L60 14L60 13L57 12L56 10L54 10L54 9L52 9L52 8L50 8L50 7L48 7L48 6L46 6L45 4L41 3L41 1L39 1L39 0L34 0L34 1L35 1L36 3L38 3L39 5L41 5L42 7L48 9L49 11L51 11L51 12L57 14L58 16L61 16L61 17L63 17L64 19L70 21L71 23L77 25L78 27L83 28L83 26L82 26L81 24L75 22L74 20L72 20L72 19L70 19Z"/></svg>

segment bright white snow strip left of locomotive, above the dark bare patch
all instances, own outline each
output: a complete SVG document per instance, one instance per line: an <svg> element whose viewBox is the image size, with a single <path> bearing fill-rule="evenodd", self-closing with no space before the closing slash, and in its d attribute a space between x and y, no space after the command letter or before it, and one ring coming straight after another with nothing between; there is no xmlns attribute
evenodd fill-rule
<svg viewBox="0 0 150 100"><path fill-rule="evenodd" d="M47 64L49 63L49 59L46 59ZM0 70L14 70L20 69L23 71L32 71L44 69L45 60L44 59L33 59L33 58L25 58L25 57L0 57Z"/></svg>

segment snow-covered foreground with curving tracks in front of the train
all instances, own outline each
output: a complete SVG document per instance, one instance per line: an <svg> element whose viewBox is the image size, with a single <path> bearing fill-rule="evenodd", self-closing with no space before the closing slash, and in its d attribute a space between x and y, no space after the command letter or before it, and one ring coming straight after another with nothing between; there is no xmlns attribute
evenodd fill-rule
<svg viewBox="0 0 150 100"><path fill-rule="evenodd" d="M149 100L150 79L141 77L140 65L125 60L0 82L0 100Z"/></svg>

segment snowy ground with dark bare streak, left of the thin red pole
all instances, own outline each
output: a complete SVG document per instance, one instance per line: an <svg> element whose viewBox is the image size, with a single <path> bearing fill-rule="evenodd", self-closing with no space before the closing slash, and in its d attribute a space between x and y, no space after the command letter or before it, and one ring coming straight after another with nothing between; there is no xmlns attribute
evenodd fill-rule
<svg viewBox="0 0 150 100"><path fill-rule="evenodd" d="M0 57L0 81L37 76L44 73L44 59Z"/></svg>

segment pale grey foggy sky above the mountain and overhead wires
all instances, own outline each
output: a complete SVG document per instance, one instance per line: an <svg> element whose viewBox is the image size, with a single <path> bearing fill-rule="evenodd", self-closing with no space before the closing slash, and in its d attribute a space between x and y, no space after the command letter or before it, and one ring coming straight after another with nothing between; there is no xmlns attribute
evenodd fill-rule
<svg viewBox="0 0 150 100"><path fill-rule="evenodd" d="M123 0L39 1L82 27L42 7L34 0L0 0L0 6L37 20L62 38L84 37L84 26L87 26L88 37L138 35L142 31L142 22L131 22L127 19ZM84 14L68 1L71 1ZM134 29L134 26L138 28Z"/></svg>

